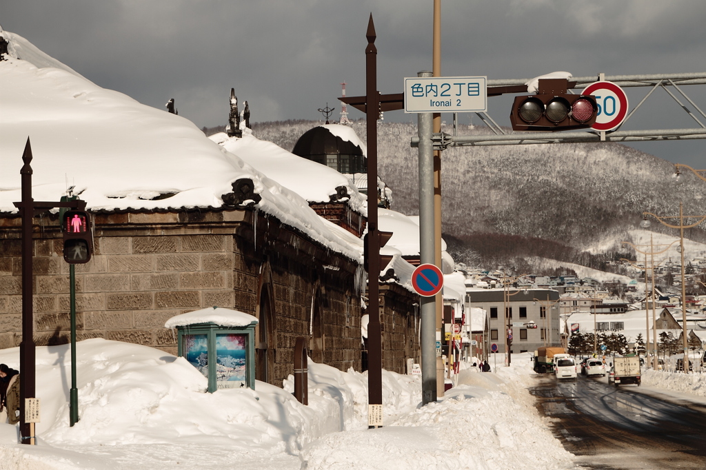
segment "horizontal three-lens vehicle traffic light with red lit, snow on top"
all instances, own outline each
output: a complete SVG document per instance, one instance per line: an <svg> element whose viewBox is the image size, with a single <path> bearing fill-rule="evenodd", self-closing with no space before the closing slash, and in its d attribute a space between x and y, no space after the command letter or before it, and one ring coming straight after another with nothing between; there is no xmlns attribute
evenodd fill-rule
<svg viewBox="0 0 706 470"><path fill-rule="evenodd" d="M539 80L537 95L518 96L510 112L513 131L568 131L591 127L598 107L592 95L568 95L567 80Z"/></svg>

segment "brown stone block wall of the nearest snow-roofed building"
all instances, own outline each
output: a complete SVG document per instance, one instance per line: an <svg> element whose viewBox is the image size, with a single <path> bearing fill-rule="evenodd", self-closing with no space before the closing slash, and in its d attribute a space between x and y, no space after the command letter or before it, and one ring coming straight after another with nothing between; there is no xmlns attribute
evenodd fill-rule
<svg viewBox="0 0 706 470"><path fill-rule="evenodd" d="M253 221L257 229L253 229ZM21 341L20 218L0 218L0 348ZM257 239L255 238L257 236ZM177 354L164 328L174 315L209 306L259 318L271 305L267 380L293 369L297 337L321 305L323 360L360 369L357 263L251 210L95 215L95 253L76 265L77 337L103 337ZM68 264L56 216L35 218L34 316L38 345L69 335ZM333 269L325 269L324 266ZM268 299L261 299L262 296Z"/></svg>

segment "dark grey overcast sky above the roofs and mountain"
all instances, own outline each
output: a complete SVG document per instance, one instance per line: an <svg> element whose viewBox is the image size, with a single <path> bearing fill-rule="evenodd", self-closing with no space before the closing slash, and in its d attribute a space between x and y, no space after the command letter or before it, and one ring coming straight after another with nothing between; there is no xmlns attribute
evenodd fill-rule
<svg viewBox="0 0 706 470"><path fill-rule="evenodd" d="M321 119L365 93L365 32L373 14L378 89L431 70L432 0L2 0L0 25L103 88L164 109L174 98L198 127L227 123L231 88L251 121ZM706 71L703 0L443 0L443 76L532 78ZM701 90L704 88L704 90ZM628 90L630 105L648 88ZM706 110L706 85L685 91ZM695 128L664 91L624 128ZM489 113L509 125L508 99ZM349 117L364 115L349 109ZM450 116L445 116L450 122ZM475 116L460 117L479 124ZM416 121L389 112L388 121ZM706 123L706 119L702 118ZM629 125L629 127L628 127ZM706 141L642 143L672 162L706 167Z"/></svg>

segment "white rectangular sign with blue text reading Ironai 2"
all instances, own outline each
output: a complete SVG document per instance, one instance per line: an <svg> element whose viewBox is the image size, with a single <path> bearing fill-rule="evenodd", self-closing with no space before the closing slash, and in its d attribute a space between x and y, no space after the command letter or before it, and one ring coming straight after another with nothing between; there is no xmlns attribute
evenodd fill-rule
<svg viewBox="0 0 706 470"><path fill-rule="evenodd" d="M405 78L405 112L481 112L488 109L486 77Z"/></svg>

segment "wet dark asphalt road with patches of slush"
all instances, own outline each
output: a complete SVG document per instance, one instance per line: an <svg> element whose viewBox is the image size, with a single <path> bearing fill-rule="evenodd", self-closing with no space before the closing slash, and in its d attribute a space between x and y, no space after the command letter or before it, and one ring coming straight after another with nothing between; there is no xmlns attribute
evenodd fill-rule
<svg viewBox="0 0 706 470"><path fill-rule="evenodd" d="M566 450L587 469L706 469L706 405L616 389L604 378L557 382L537 375L530 392Z"/></svg>

